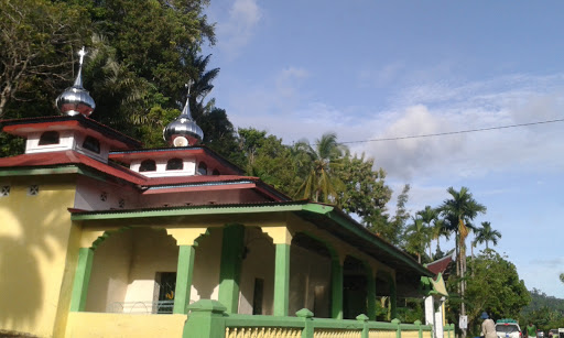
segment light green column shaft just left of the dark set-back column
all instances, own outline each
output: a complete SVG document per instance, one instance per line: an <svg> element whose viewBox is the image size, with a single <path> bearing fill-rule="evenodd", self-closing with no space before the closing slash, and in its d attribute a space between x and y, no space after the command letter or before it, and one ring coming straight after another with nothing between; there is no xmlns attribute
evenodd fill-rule
<svg viewBox="0 0 564 338"><path fill-rule="evenodd" d="M193 246L180 246L173 314L187 314L186 307L189 304L189 290L194 272L194 255Z"/></svg>

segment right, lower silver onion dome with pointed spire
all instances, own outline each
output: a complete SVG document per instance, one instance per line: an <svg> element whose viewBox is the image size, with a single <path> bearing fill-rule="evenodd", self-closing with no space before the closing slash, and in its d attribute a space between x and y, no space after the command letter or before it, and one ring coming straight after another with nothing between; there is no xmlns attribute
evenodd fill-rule
<svg viewBox="0 0 564 338"><path fill-rule="evenodd" d="M189 87L188 97L181 115L163 129L163 138L169 145L187 146L196 145L204 139L204 132L192 119L189 113Z"/></svg>

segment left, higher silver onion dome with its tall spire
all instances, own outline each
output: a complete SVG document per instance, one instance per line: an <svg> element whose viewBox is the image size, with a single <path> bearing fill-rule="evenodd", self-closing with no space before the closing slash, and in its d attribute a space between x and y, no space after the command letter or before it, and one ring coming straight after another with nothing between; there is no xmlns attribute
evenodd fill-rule
<svg viewBox="0 0 564 338"><path fill-rule="evenodd" d="M68 116L82 113L83 116L88 117L96 108L96 103L88 94L88 90L83 87L83 59L86 55L84 47L78 52L78 55L80 55L80 63L75 84L73 87L66 88L65 91L57 97L55 103L57 105L58 110Z"/></svg>

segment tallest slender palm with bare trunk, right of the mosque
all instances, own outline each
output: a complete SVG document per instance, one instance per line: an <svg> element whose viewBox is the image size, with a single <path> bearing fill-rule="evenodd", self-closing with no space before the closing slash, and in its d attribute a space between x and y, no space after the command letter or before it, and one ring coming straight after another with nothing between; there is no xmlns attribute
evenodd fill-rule
<svg viewBox="0 0 564 338"><path fill-rule="evenodd" d="M466 315L466 308L464 304L464 294L466 288L466 282L464 280L466 274L466 238L468 237L468 227L470 220L476 218L478 214L486 212L486 207L481 204L477 203L471 194L468 192L467 187L462 187L459 192L455 190L453 187L447 189L448 194L451 194L451 198L443 201L441 205L441 214L445 217L449 217L451 220L457 222L457 241L458 241L458 275L460 277L460 297L463 302L460 303L460 315ZM451 225L454 226L454 225ZM463 338L466 338L466 329L463 329L462 334Z"/></svg>

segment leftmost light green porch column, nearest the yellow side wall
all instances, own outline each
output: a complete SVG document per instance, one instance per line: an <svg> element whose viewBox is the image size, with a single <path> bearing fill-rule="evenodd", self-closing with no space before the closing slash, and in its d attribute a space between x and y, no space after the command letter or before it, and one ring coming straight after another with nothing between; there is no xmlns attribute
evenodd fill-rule
<svg viewBox="0 0 564 338"><path fill-rule="evenodd" d="M90 282L90 272L93 270L94 250L80 248L78 250L78 263L76 265L75 281L73 283L73 294L70 297L70 310L84 310L86 306L86 296L88 294L88 283Z"/></svg>

